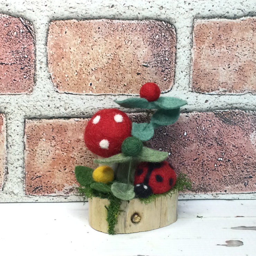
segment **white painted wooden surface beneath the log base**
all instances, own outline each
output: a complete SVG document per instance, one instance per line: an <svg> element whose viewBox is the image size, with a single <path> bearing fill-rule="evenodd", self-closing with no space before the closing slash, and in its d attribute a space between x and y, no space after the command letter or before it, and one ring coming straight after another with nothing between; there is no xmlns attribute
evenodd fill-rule
<svg viewBox="0 0 256 256"><path fill-rule="evenodd" d="M231 229L256 226L256 200L180 200L175 223L125 235L92 229L82 202L0 203L0 223L0 255L7 256L256 255L256 230ZM244 244L221 246L226 240Z"/></svg>

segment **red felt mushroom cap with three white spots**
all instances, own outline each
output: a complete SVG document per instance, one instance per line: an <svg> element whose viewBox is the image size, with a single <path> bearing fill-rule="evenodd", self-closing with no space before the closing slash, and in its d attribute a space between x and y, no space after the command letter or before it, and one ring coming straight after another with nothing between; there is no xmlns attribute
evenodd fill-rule
<svg viewBox="0 0 256 256"><path fill-rule="evenodd" d="M89 120L84 130L88 149L99 156L110 157L121 152L122 142L131 136L131 121L118 109L102 109Z"/></svg>

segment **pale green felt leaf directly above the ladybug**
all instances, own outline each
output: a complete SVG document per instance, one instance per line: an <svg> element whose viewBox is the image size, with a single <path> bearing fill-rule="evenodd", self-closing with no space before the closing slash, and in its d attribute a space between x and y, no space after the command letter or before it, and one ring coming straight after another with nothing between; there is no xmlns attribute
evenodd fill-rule
<svg viewBox="0 0 256 256"><path fill-rule="evenodd" d="M140 162L162 162L167 156L168 152L143 147L137 159Z"/></svg>

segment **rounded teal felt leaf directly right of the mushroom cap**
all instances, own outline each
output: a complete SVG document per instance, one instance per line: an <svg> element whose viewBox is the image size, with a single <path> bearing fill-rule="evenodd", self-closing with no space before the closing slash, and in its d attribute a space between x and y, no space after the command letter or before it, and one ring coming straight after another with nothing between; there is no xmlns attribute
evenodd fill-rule
<svg viewBox="0 0 256 256"><path fill-rule="evenodd" d="M131 135L140 140L149 140L154 135L154 127L148 123L132 123Z"/></svg>

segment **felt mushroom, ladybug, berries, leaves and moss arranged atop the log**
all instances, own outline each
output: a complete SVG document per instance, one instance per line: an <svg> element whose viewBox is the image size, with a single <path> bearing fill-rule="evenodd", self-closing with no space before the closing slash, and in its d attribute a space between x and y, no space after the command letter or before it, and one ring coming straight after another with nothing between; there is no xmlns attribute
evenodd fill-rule
<svg viewBox="0 0 256 256"><path fill-rule="evenodd" d="M131 122L126 113L116 108L102 109L89 120L84 130L84 142L92 153L101 158L93 170L86 166L75 167L75 177L80 183L78 191L87 198L108 199L107 222L109 234L115 234L115 225L122 201L138 198L150 202L157 196L172 195L190 188L185 174L178 177L165 159L168 152L146 147L155 129L173 124L186 101L174 97L159 97L155 83L141 86L140 97L115 100L124 108L143 109L147 122ZM116 164L114 170L109 166ZM106 209L104 212L106 213ZM101 218L102 219L102 218Z"/></svg>

